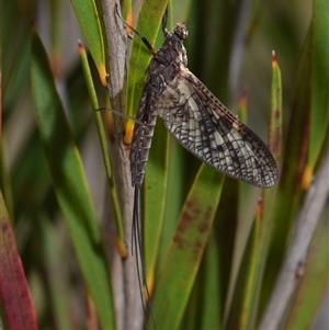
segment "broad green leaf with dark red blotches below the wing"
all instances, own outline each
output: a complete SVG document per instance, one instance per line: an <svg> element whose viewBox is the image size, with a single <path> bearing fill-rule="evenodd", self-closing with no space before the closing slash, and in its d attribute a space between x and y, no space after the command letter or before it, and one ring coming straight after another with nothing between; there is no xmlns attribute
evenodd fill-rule
<svg viewBox="0 0 329 330"><path fill-rule="evenodd" d="M223 175L203 164L182 208L167 257L159 270L154 296L156 320L178 329L207 242Z"/></svg>

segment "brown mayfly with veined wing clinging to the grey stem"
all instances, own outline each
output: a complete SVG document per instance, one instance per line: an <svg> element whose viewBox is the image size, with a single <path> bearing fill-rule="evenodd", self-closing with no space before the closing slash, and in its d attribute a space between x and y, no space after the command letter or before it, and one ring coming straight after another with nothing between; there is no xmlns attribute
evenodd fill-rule
<svg viewBox="0 0 329 330"><path fill-rule="evenodd" d="M169 32L166 12L164 43L156 52L143 35L121 20L152 54L131 145L134 230L138 232L139 189L158 116L184 148L215 170L259 187L273 186L277 169L266 145L188 69L183 45L189 34L186 26L177 23L173 32Z"/></svg>

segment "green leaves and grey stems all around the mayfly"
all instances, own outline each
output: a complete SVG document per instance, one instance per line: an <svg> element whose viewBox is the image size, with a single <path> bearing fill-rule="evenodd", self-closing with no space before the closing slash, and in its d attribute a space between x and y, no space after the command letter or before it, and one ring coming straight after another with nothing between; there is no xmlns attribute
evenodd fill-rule
<svg viewBox="0 0 329 330"><path fill-rule="evenodd" d="M167 4L121 8L157 48ZM140 203L157 329L311 329L328 288L328 3L168 5L169 29L189 27L190 70L268 136L281 175L265 191L224 177L158 121ZM4 329L143 329L128 116L151 55L114 9L2 3Z"/></svg>

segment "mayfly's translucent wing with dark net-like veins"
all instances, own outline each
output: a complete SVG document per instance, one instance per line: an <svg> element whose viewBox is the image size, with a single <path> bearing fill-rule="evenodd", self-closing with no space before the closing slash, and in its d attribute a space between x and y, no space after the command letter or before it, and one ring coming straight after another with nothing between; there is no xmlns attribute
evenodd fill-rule
<svg viewBox="0 0 329 330"><path fill-rule="evenodd" d="M178 141L217 171L260 187L275 184L276 163L265 144L183 65L157 110Z"/></svg>

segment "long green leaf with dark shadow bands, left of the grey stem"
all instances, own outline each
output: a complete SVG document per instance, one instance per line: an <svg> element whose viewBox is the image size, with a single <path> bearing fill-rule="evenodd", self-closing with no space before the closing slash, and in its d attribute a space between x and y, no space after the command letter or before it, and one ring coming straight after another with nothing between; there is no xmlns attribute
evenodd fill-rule
<svg viewBox="0 0 329 330"><path fill-rule="evenodd" d="M58 204L103 329L114 329L109 269L82 162L58 98L45 48L33 33L31 80L35 116Z"/></svg>

